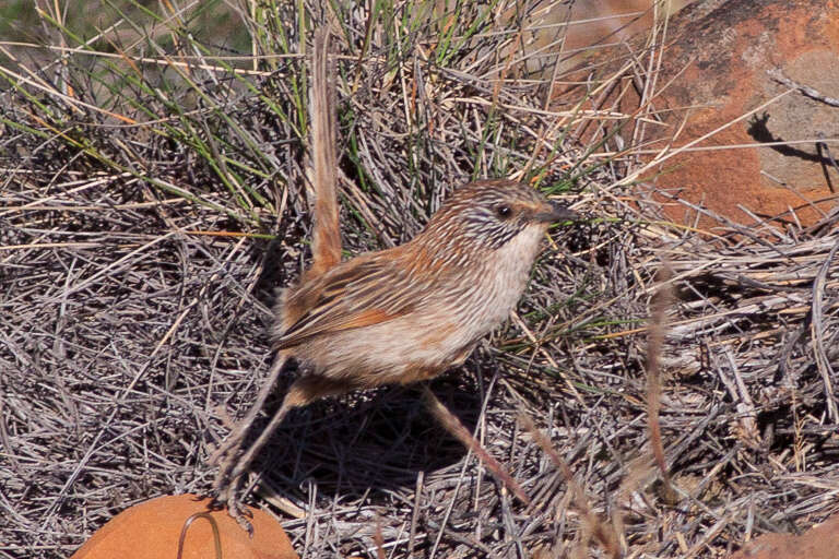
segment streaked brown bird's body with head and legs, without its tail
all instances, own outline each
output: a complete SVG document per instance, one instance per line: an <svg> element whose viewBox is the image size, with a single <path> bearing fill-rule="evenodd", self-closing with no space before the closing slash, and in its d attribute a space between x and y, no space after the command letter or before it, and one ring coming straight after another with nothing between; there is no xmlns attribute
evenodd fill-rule
<svg viewBox="0 0 839 559"><path fill-rule="evenodd" d="M298 364L299 377L241 457L231 449L244 430L216 451L228 455L215 487L232 515L236 480L291 409L462 365L515 309L547 229L577 219L528 185L478 180L456 189L410 241L321 266L284 289L271 347Z"/></svg>

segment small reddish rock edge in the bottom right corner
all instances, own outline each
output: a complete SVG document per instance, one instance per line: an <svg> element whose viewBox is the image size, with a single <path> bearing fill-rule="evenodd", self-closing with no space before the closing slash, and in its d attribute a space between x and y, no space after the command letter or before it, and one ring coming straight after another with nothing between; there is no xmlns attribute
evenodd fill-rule
<svg viewBox="0 0 839 559"><path fill-rule="evenodd" d="M839 516L834 515L800 536L764 534L729 559L834 559L839 549Z"/></svg>

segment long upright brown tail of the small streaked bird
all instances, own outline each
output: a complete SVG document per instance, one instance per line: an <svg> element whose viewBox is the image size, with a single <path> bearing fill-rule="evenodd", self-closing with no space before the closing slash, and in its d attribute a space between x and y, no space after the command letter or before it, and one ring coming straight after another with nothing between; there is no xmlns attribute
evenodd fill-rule
<svg viewBox="0 0 839 559"><path fill-rule="evenodd" d="M311 167L309 179L315 194L315 228L311 239L310 277L341 262L341 228L338 210L338 156L335 148L335 84L330 80L327 53L329 28L315 32L309 90L311 119Z"/></svg>

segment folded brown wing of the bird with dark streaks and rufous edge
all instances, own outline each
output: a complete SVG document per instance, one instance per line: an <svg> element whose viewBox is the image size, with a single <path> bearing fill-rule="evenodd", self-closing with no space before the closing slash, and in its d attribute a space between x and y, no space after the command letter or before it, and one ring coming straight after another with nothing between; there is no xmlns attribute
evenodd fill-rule
<svg viewBox="0 0 839 559"><path fill-rule="evenodd" d="M356 262L357 260L357 262ZM303 314L274 341L286 349L314 336L369 326L402 317L421 302L409 274L388 259L356 259L341 264L311 286L304 285L288 304ZM295 300L297 299L297 300ZM304 302L305 301L305 302Z"/></svg>

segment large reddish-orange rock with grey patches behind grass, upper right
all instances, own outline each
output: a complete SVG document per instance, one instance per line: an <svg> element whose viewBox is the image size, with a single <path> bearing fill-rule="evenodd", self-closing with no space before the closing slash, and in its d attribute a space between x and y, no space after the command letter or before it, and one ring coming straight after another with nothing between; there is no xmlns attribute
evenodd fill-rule
<svg viewBox="0 0 839 559"><path fill-rule="evenodd" d="M658 138L671 138L688 115L687 126L674 143L685 145L789 90L767 74L772 69L823 95L839 97L837 22L839 0L706 0L685 8L671 22L657 78L660 93L652 104L669 124ZM638 45L640 41L636 43L639 52ZM631 87L616 88L621 90L633 93ZM570 100L572 95L564 98ZM624 112L637 106L637 96L626 96L622 103ZM649 140L655 127L646 129ZM631 130L623 130L622 135L630 138ZM839 138L839 108L790 93L697 146L819 136ZM830 148L837 158L839 143L831 143ZM823 201L832 197L826 175L839 191L839 171L830 168L811 142L684 153L647 178L659 189L681 192L684 200L737 223L753 223L737 209L741 204L761 216L775 216L791 206L806 225L822 216L816 206L827 212L836 203ZM695 216L681 204L670 204L665 212L683 223ZM701 223L716 225L708 218Z"/></svg>

